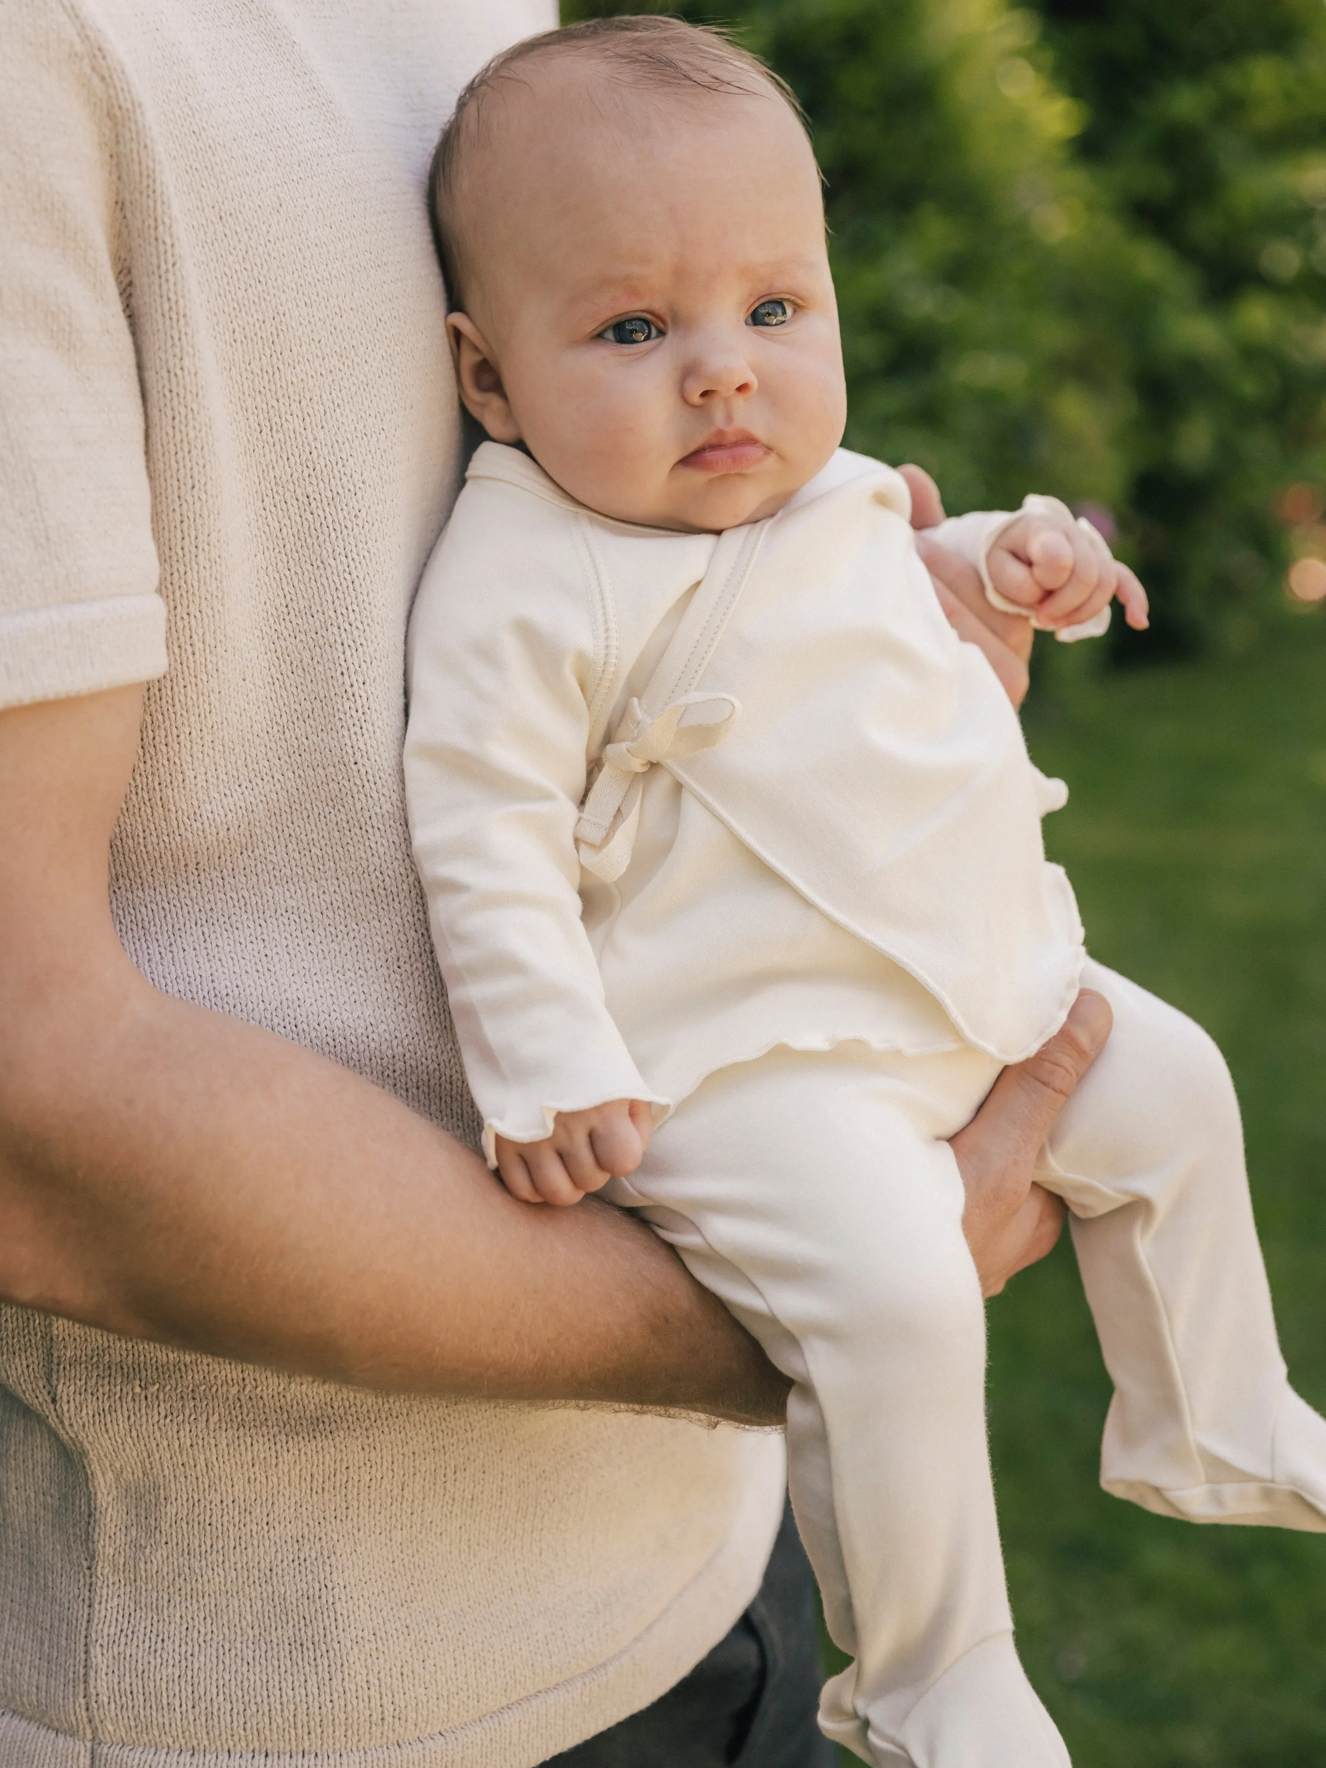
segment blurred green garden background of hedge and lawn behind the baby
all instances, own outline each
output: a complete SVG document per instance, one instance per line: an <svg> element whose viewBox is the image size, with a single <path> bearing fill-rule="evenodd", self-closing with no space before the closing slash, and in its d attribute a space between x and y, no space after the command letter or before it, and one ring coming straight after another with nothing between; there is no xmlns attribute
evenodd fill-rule
<svg viewBox="0 0 1326 1768"><path fill-rule="evenodd" d="M651 7L564 16L615 11ZM951 509L1110 511L1153 594L1151 635L1048 647L1027 730L1073 796L1047 833L1096 956L1229 1055L1282 1340L1326 1409L1326 603L1285 596L1326 559L1326 5L652 11L730 25L812 117L849 440ZM1100 1492L1066 1243L990 1335L1018 1642L1077 1768L1326 1768L1326 1540Z"/></svg>

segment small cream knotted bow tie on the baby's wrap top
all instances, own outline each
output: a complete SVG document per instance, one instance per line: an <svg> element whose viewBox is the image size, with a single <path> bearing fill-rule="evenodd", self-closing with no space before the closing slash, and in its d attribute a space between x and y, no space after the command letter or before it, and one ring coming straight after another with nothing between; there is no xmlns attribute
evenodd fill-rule
<svg viewBox="0 0 1326 1768"><path fill-rule="evenodd" d="M682 725L682 716L693 705L725 705L728 711L721 718ZM658 718L651 718L638 700L631 700L580 806L576 850L587 872L605 884L615 884L631 863L644 774L658 762L711 750L728 734L739 711L741 704L730 693L684 693Z"/></svg>

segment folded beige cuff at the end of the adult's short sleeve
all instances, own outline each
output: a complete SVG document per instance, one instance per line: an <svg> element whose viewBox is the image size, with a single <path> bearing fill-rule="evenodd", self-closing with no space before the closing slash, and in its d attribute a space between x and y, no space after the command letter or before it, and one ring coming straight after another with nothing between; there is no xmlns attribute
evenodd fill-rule
<svg viewBox="0 0 1326 1768"><path fill-rule="evenodd" d="M104 596L0 613L0 709L166 674L161 596Z"/></svg>

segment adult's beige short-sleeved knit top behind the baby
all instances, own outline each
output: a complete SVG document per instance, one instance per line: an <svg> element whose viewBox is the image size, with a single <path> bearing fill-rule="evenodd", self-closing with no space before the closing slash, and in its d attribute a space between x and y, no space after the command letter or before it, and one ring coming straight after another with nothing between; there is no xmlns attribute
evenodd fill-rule
<svg viewBox="0 0 1326 1768"><path fill-rule="evenodd" d="M458 451L423 179L550 11L0 9L0 705L152 679L133 958L467 1135L400 780ZM529 1768L721 1637L780 1506L778 1439L5 1308L0 1763Z"/></svg>

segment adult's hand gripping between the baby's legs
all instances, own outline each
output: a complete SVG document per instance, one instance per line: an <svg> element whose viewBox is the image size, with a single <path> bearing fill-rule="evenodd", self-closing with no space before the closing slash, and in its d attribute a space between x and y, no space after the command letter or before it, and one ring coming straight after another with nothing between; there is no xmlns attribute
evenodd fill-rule
<svg viewBox="0 0 1326 1768"><path fill-rule="evenodd" d="M1110 1006L1084 988L1064 1025L1025 1063L1006 1068L965 1130L953 1137L967 1208L967 1236L981 1294L1043 1259L1059 1239L1064 1206L1034 1183L1036 1156L1054 1119L1110 1034Z"/></svg>

